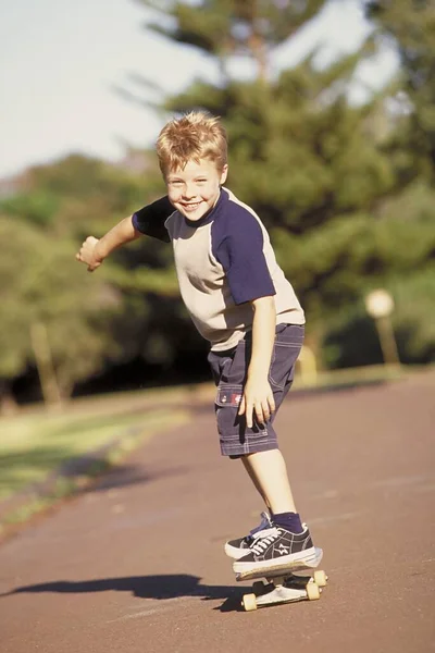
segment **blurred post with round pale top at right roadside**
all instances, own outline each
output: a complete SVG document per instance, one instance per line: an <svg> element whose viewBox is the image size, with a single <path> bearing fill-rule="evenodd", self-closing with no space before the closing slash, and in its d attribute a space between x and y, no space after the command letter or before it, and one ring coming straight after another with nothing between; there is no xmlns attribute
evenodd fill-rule
<svg viewBox="0 0 435 653"><path fill-rule="evenodd" d="M372 291L365 296L365 310L369 316L374 319L376 324L384 362L389 365L400 365L390 318L394 310L391 295L383 288Z"/></svg>

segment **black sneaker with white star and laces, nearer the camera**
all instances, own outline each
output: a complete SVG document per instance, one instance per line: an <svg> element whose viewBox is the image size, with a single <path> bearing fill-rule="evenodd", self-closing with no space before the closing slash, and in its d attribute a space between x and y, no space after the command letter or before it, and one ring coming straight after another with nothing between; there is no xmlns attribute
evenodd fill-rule
<svg viewBox="0 0 435 653"><path fill-rule="evenodd" d="M315 559L316 550L306 523L301 533L291 533L274 527L259 534L251 543L249 552L233 564L233 570L236 574L261 571L299 560L309 565Z"/></svg>

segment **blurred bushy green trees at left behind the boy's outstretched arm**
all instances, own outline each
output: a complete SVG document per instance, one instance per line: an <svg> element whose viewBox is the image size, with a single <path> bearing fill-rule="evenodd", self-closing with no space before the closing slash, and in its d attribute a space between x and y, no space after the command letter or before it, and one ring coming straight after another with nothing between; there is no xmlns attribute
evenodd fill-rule
<svg viewBox="0 0 435 653"><path fill-rule="evenodd" d="M187 318L174 299L171 248L142 238L94 275L74 260L83 238L99 236L163 192L157 167L144 182L136 171L71 156L28 170L15 193L1 198L0 233L11 243L0 264L4 396L36 364L52 403L58 386L50 359L62 398L77 382L135 357L172 362ZM172 337L171 323L178 326Z"/></svg>

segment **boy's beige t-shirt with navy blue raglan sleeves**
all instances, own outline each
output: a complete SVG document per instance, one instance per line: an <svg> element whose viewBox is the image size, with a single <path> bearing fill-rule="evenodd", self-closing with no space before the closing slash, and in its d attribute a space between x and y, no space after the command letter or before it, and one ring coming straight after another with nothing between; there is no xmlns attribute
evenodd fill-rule
<svg viewBox="0 0 435 653"><path fill-rule="evenodd" d="M200 220L185 218L164 197L136 211L133 225L172 242L183 300L214 352L234 347L251 330L252 299L274 296L277 324L304 323L260 218L227 188Z"/></svg>

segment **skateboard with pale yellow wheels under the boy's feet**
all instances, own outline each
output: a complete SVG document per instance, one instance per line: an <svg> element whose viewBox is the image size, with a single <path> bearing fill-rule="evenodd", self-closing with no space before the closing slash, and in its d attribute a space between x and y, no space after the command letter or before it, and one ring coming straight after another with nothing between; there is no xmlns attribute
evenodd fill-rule
<svg viewBox="0 0 435 653"><path fill-rule="evenodd" d="M265 605L320 599L322 589L327 582L326 574L318 569L322 557L322 549L316 549L315 555L310 560L295 560L287 565L261 569L261 571L236 574L237 581L256 578L265 578L266 580L266 583L254 582L252 593L244 594L243 607L246 612L250 612Z"/></svg>

